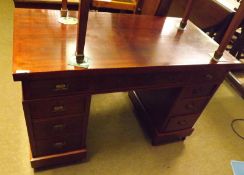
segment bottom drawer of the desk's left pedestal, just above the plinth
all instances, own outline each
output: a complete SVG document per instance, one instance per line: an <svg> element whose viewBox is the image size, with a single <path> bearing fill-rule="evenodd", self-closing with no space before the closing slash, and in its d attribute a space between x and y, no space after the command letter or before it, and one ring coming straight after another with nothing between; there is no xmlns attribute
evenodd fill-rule
<svg viewBox="0 0 244 175"><path fill-rule="evenodd" d="M36 142L34 157L64 153L80 149L83 146L81 135L69 135L55 139L39 140Z"/></svg>

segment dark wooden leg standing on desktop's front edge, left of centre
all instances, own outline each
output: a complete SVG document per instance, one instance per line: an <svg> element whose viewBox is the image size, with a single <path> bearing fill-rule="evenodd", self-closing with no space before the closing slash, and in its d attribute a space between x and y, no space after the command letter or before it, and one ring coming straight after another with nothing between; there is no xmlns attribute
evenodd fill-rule
<svg viewBox="0 0 244 175"><path fill-rule="evenodd" d="M78 28L77 28L77 42L76 42L76 61L78 64L84 63L84 47L86 39L86 29L88 21L88 13L90 7L90 0L80 0Z"/></svg>

